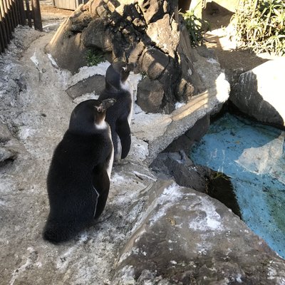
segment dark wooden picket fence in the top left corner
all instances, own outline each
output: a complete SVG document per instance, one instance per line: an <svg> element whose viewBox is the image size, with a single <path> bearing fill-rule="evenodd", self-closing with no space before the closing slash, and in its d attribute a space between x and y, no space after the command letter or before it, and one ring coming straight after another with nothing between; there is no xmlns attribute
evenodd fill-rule
<svg viewBox="0 0 285 285"><path fill-rule="evenodd" d="M0 0L0 53L11 42L16 26L26 24L43 31L39 0Z"/></svg>

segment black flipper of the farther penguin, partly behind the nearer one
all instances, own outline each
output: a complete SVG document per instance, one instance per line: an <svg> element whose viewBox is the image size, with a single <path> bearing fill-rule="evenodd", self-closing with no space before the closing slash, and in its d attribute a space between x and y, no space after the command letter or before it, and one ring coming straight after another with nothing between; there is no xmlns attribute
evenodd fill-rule
<svg viewBox="0 0 285 285"><path fill-rule="evenodd" d="M123 159L128 155L131 143L130 125L128 123L128 118L125 118L125 120L118 120L116 123L115 131L120 138L120 145L122 146L121 159Z"/></svg>

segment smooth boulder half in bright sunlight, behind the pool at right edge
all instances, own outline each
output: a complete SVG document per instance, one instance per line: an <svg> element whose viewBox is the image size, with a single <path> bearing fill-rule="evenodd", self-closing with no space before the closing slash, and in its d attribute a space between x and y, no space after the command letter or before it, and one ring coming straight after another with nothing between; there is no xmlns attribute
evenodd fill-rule
<svg viewBox="0 0 285 285"><path fill-rule="evenodd" d="M284 86L285 58L267 61L239 76L229 100L242 113L279 127L285 126Z"/></svg>

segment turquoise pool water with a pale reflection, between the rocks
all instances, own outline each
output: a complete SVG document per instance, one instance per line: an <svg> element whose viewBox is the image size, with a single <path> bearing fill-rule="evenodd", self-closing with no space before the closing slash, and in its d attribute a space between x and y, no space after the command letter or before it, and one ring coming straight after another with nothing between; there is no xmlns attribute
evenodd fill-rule
<svg viewBox="0 0 285 285"><path fill-rule="evenodd" d="M285 133L226 114L192 149L195 164L231 177L242 219L285 258Z"/></svg>

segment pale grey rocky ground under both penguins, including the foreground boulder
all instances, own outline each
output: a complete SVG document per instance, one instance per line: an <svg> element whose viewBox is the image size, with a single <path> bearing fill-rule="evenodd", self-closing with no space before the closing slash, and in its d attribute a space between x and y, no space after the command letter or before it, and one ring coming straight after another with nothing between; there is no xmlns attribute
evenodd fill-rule
<svg viewBox="0 0 285 285"><path fill-rule="evenodd" d="M207 91L187 105L169 115L146 114L136 106L132 149L124 165L113 167L100 220L69 242L55 246L43 241L51 155L76 100L88 96L73 101L66 90L90 76L103 76L108 66L83 68L75 75L63 71L43 52L50 40L50 34L43 34L21 57L9 51L1 58L1 123L25 149L17 146L16 159L0 168L1 282L284 284L284 260L239 217L208 195L159 180L148 167L172 140L227 100L229 85L209 58L197 61ZM213 69L217 73L209 77ZM22 78L25 88L9 88L11 78ZM135 76L131 79L136 90Z"/></svg>

